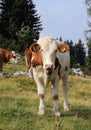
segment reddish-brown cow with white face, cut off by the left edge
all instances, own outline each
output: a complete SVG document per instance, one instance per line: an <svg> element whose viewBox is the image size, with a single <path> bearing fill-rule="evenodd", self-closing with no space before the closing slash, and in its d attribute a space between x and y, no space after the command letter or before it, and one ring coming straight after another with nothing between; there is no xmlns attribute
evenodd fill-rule
<svg viewBox="0 0 91 130"><path fill-rule="evenodd" d="M10 59L17 63L15 51L0 48L0 76L3 75L3 64L10 63Z"/></svg>

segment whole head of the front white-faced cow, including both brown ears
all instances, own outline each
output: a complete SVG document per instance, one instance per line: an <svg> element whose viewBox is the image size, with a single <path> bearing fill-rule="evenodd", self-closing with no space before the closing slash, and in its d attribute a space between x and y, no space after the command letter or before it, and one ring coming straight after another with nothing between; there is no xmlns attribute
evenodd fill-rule
<svg viewBox="0 0 91 130"><path fill-rule="evenodd" d="M44 37L40 38L37 43L33 44L31 47L33 52L40 52L43 69L46 70L47 75L51 75L53 69L55 69L56 65L56 56L58 51L64 53L68 51L69 48L66 44L58 44L54 38Z"/></svg>

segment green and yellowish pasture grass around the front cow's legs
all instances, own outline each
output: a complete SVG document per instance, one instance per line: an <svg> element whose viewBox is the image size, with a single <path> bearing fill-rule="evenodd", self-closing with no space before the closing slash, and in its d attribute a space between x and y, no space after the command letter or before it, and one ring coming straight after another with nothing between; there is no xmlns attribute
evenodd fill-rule
<svg viewBox="0 0 91 130"><path fill-rule="evenodd" d="M63 111L60 82L59 101L61 117L53 112L50 85L46 88L45 115L37 114L39 99L33 79L28 75L14 76L25 71L25 62L4 66L0 77L0 130L90 130L91 129L91 79L69 76L70 111Z"/></svg>

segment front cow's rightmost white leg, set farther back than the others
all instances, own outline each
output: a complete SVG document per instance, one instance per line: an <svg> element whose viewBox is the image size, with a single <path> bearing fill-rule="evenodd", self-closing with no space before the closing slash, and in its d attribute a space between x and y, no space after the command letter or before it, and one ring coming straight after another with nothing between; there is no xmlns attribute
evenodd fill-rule
<svg viewBox="0 0 91 130"><path fill-rule="evenodd" d="M69 104L67 99L68 93L68 76L62 78L63 81L63 95L64 95L64 111L69 111Z"/></svg>

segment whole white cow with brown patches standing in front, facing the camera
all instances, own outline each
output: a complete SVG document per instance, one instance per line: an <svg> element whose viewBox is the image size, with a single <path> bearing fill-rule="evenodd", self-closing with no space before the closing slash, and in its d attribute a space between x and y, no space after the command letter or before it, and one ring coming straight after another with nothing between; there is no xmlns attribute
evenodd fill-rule
<svg viewBox="0 0 91 130"><path fill-rule="evenodd" d="M33 77L37 84L40 99L39 114L44 114L45 86L48 82L52 84L52 97L54 99L54 112L60 116L58 103L59 81L63 82L64 110L68 111L68 75L70 68L69 46L60 43L52 37L42 37L36 44L31 45L31 66Z"/></svg>

